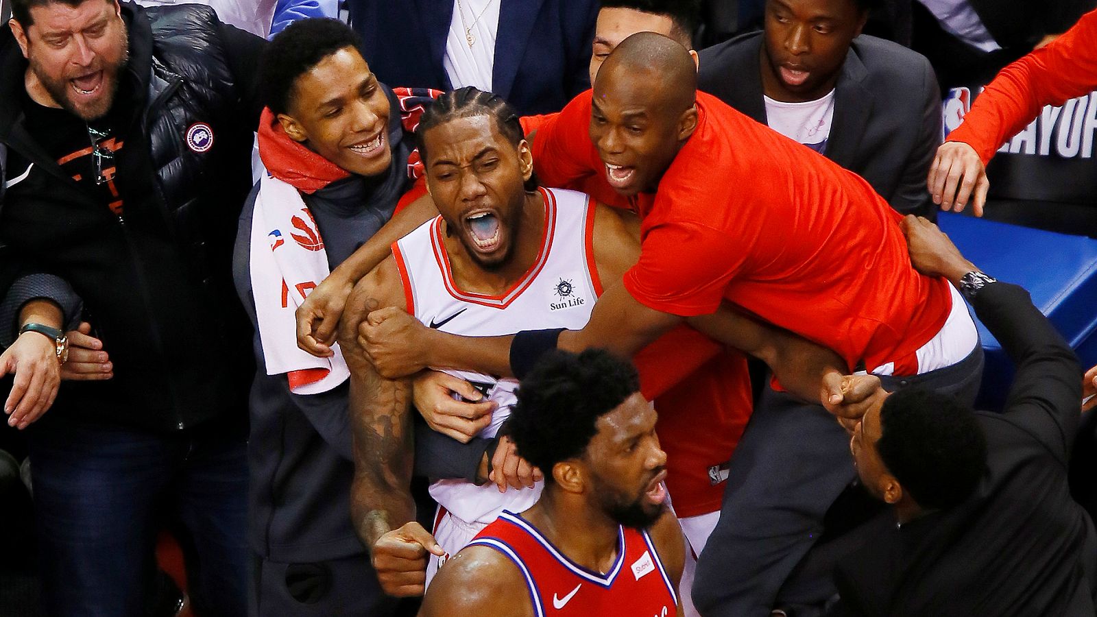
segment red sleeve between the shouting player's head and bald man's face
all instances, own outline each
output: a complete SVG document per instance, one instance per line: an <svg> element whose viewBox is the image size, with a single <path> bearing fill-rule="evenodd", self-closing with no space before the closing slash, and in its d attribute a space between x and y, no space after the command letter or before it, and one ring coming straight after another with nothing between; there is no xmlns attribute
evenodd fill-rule
<svg viewBox="0 0 1097 617"><path fill-rule="evenodd" d="M596 173L590 143L590 90L572 100L557 114L543 121L533 137L533 170L546 187L568 187ZM600 165L600 164L599 164Z"/></svg>

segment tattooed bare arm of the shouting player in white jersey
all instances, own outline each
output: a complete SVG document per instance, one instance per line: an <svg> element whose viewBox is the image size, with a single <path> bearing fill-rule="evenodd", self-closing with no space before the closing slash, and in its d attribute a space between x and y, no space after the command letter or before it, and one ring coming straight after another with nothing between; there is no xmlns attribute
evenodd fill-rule
<svg viewBox="0 0 1097 617"><path fill-rule="evenodd" d="M415 520L409 484L414 460L408 379L377 374L358 344L359 324L375 307L406 308L396 262L389 256L351 293L339 326L339 347L351 370L350 424L354 447L351 516L365 547Z"/></svg>

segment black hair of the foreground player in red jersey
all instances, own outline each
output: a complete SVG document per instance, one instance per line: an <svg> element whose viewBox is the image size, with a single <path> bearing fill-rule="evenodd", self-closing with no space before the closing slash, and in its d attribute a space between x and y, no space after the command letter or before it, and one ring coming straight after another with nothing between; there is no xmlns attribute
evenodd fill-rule
<svg viewBox="0 0 1097 617"><path fill-rule="evenodd" d="M629 360L604 349L554 350L519 385L507 431L518 455L552 482L556 463L583 456L598 418L636 392L640 375Z"/></svg>

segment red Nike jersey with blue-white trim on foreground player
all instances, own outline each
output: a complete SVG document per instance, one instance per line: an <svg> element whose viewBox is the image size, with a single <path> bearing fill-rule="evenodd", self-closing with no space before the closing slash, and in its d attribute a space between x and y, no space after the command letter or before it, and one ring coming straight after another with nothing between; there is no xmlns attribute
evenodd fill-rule
<svg viewBox="0 0 1097 617"><path fill-rule="evenodd" d="M678 595L647 531L618 529L618 558L606 574L575 564L510 512L499 515L468 546L490 547L518 565L538 617L676 616Z"/></svg>

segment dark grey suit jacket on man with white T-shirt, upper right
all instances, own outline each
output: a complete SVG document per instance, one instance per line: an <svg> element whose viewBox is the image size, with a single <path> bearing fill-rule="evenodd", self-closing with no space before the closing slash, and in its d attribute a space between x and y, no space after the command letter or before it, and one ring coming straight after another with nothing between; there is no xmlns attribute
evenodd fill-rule
<svg viewBox="0 0 1097 617"><path fill-rule="evenodd" d="M766 124L759 54L761 33L701 52L699 88ZM941 143L941 97L920 54L858 36L835 86L826 157L872 184L903 214L936 218L926 175Z"/></svg>

